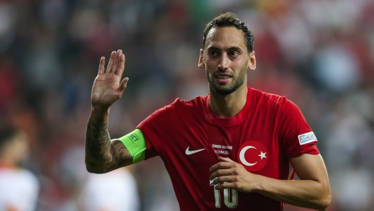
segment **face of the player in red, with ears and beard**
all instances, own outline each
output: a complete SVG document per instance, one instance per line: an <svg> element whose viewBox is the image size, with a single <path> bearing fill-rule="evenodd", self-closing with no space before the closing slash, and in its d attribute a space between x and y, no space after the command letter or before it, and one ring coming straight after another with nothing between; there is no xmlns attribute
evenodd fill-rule
<svg viewBox="0 0 374 211"><path fill-rule="evenodd" d="M205 68L210 91L228 95L246 86L246 70L256 68L256 59L246 49L242 30L218 27L208 33L198 66Z"/></svg>

